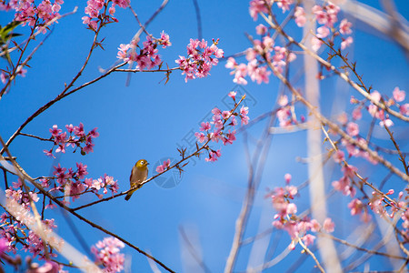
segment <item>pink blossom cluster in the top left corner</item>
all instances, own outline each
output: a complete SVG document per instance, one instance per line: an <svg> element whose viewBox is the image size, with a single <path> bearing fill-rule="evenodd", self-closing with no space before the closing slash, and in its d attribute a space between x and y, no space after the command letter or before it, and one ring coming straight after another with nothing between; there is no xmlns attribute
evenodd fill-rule
<svg viewBox="0 0 409 273"><path fill-rule="evenodd" d="M30 26L45 25L55 17L59 16L58 12L63 0L43 0L40 4L35 5L34 0L19 0L9 1L7 4L4 1L0 2L0 10L15 10L15 21L23 22L23 25ZM44 29L44 32L46 29Z"/></svg>

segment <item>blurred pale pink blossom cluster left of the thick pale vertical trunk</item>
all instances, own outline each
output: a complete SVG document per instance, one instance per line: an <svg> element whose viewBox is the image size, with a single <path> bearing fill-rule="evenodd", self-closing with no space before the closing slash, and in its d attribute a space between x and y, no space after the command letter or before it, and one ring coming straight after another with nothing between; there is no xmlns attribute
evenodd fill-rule
<svg viewBox="0 0 409 273"><path fill-rule="evenodd" d="M233 57L227 59L226 68L233 69L230 73L234 75L233 82L239 85L246 85L245 76L250 76L251 80L261 84L269 82L271 71L265 65L264 59L271 63L278 73L282 73L287 63L294 61L294 53L289 52L285 47L274 46L274 39L266 32L264 25L257 25L256 31L263 34L261 40L254 39L254 47L246 50L247 65L238 64Z"/></svg>

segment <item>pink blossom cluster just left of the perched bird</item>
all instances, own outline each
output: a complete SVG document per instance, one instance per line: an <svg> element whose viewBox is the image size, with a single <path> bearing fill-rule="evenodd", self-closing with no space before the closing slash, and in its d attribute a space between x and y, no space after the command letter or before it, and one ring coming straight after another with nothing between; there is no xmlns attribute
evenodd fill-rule
<svg viewBox="0 0 409 273"><path fill-rule="evenodd" d="M65 195L72 197L73 201L79 198L82 194L86 192L92 192L97 197L102 198L103 195L99 194L99 190L103 189L104 194L107 194L108 189L114 194L118 191L118 183L114 180L113 177L104 175L97 179L85 178L88 174L86 170L86 165L82 163L76 163L76 170L73 170L71 167L67 170L65 167L61 167L58 164L53 172L57 184L54 182L54 187L50 191L63 191ZM50 179L42 179L42 186L47 188L51 187ZM68 192L66 192L68 190ZM66 202L66 201L64 201Z"/></svg>

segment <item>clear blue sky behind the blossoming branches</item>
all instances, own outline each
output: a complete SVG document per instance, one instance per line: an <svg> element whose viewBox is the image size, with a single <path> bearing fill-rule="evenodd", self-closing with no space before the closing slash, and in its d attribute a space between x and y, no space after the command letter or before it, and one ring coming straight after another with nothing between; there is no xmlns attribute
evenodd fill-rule
<svg viewBox="0 0 409 273"><path fill-rule="evenodd" d="M210 41L220 38L219 47L224 55L230 56L241 52L250 43L244 32L255 35L254 22L248 15L247 1L198 1L202 16L203 36ZM369 2L369 1L366 1ZM398 9L408 19L409 5L405 1L397 1ZM160 1L143 1L133 3L136 13L145 21L155 11ZM375 4L377 5L377 4ZM37 108L54 98L64 88L64 83L71 81L76 71L82 66L87 50L91 45L93 33L85 29L81 17L84 5L80 5L75 15L67 16L55 25L53 34L46 40L33 60L30 62L24 78L18 78L11 91L2 98L0 107L0 134L7 139L31 116ZM377 6L375 6L377 7ZM63 5L61 13L74 9L74 3ZM107 25L100 37L105 37L105 50L95 50L83 76L78 83L85 83L99 76L98 67L112 66L116 61L117 47L128 43L138 30L135 18L128 10L116 9L118 24ZM12 14L2 12L0 24L5 25ZM357 61L358 70L364 80L383 93L392 94L394 86L409 90L407 81L408 63L400 48L382 35L368 34L364 25L358 25L354 32L354 47L350 58ZM185 46L190 38L197 37L195 9L192 1L170 1L165 10L149 25L148 31L158 36L162 30L170 35L172 46L160 49L169 66L175 66L175 59L185 56ZM355 29L354 29L355 30ZM17 32L24 33L21 27ZM294 28L294 33L299 31ZM37 38L41 40L42 37ZM241 60L244 62L244 59ZM1 62L2 67L5 61ZM300 58L300 64L301 58ZM150 174L154 174L155 162L161 158L178 157L176 148L184 143L184 137L191 130L198 130L202 121L214 106L224 107L226 94L234 88L233 77L224 68L224 62L214 66L211 76L185 83L185 76L179 72L171 75L165 85L163 74L135 74L131 84L125 86L126 74L113 74L95 85L88 86L68 96L35 118L23 132L48 137L48 129L53 125L63 127L66 124L84 123L85 130L98 127L100 136L95 139L95 152L86 157L78 153L58 157L58 161L45 157L43 150L49 144L18 136L10 147L18 162L32 176L46 176L55 163L64 167L75 167L75 162L83 162L88 166L88 176L97 178L105 173L115 177L124 191L129 187L129 174L135 162L145 158L151 163ZM297 87L302 87L298 83ZM330 111L334 106L336 92L350 93L349 87L335 80L322 85L323 111ZM344 89L343 89L344 88ZM275 96L279 90L278 81L272 76L269 85L249 83L244 86L249 96L249 116L254 118L272 109ZM349 95L345 96L346 103ZM254 149L254 140L261 135L265 121L253 126L248 131L250 149ZM364 126L364 125L363 125ZM396 132L404 132L404 128L396 127ZM382 136L382 134L380 135ZM397 134L401 137L402 134ZM129 202L119 197L95 207L85 208L80 213L95 221L98 225L115 232L131 241L138 248L150 251L165 265L175 271L188 270L182 261L183 240L179 228L184 227L188 234L196 234L205 264L214 272L224 268L233 236L234 222L239 214L243 201L247 165L244 156L244 137L239 135L233 146L223 147L222 157L216 163L201 160L191 162L177 187L165 189L151 182L138 190ZM266 160L263 181L259 187L250 217L249 226L244 238L254 236L257 229L264 230L271 225L274 210L269 199L265 199L266 187L284 185L284 174L291 173L294 184L299 185L306 179L306 166L296 162L296 157L306 157L305 133L274 136L270 153ZM403 144L407 148L407 145ZM339 176L339 171L328 173ZM383 174L381 173L380 176ZM307 207L307 190L301 193L300 207ZM94 200L85 198L84 202ZM344 202L338 196L336 201ZM335 202L335 201L334 201ZM75 202L76 203L76 202ZM74 203L74 204L75 204ZM339 209L343 209L339 207ZM357 225L355 219L349 217L347 211L337 213L331 211L335 224L343 235L348 221ZM263 216L263 217L261 217ZM270 216L270 217L268 217ZM51 213L49 217L57 220L57 233L75 246L79 246L75 236L66 226L64 218ZM262 219L262 220L260 220ZM93 245L105 234L73 219L80 228L86 243ZM345 228L345 229L344 229ZM345 234L344 234L345 235ZM274 236L273 236L274 237ZM284 234L279 248L285 248L289 241ZM249 247L244 247L236 264L237 271L245 269ZM146 258L131 248L125 248L128 258L132 257L132 271L149 271ZM298 252L294 254L294 257ZM23 254L25 256L25 254ZM288 258L284 263L292 263ZM311 268L311 261L304 266Z"/></svg>

